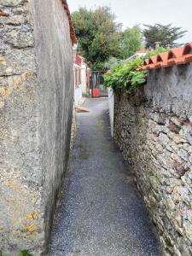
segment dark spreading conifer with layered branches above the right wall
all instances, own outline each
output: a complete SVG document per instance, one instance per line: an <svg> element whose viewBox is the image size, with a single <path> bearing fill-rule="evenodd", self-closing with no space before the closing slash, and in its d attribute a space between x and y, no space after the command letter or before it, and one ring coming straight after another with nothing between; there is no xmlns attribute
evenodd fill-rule
<svg viewBox="0 0 192 256"><path fill-rule="evenodd" d="M160 24L144 26L143 36L148 49L155 49L156 44L160 44L160 46L164 48L177 45L175 41L179 38L183 38L183 35L187 32L182 31L181 27L172 26L172 24L166 26Z"/></svg>

